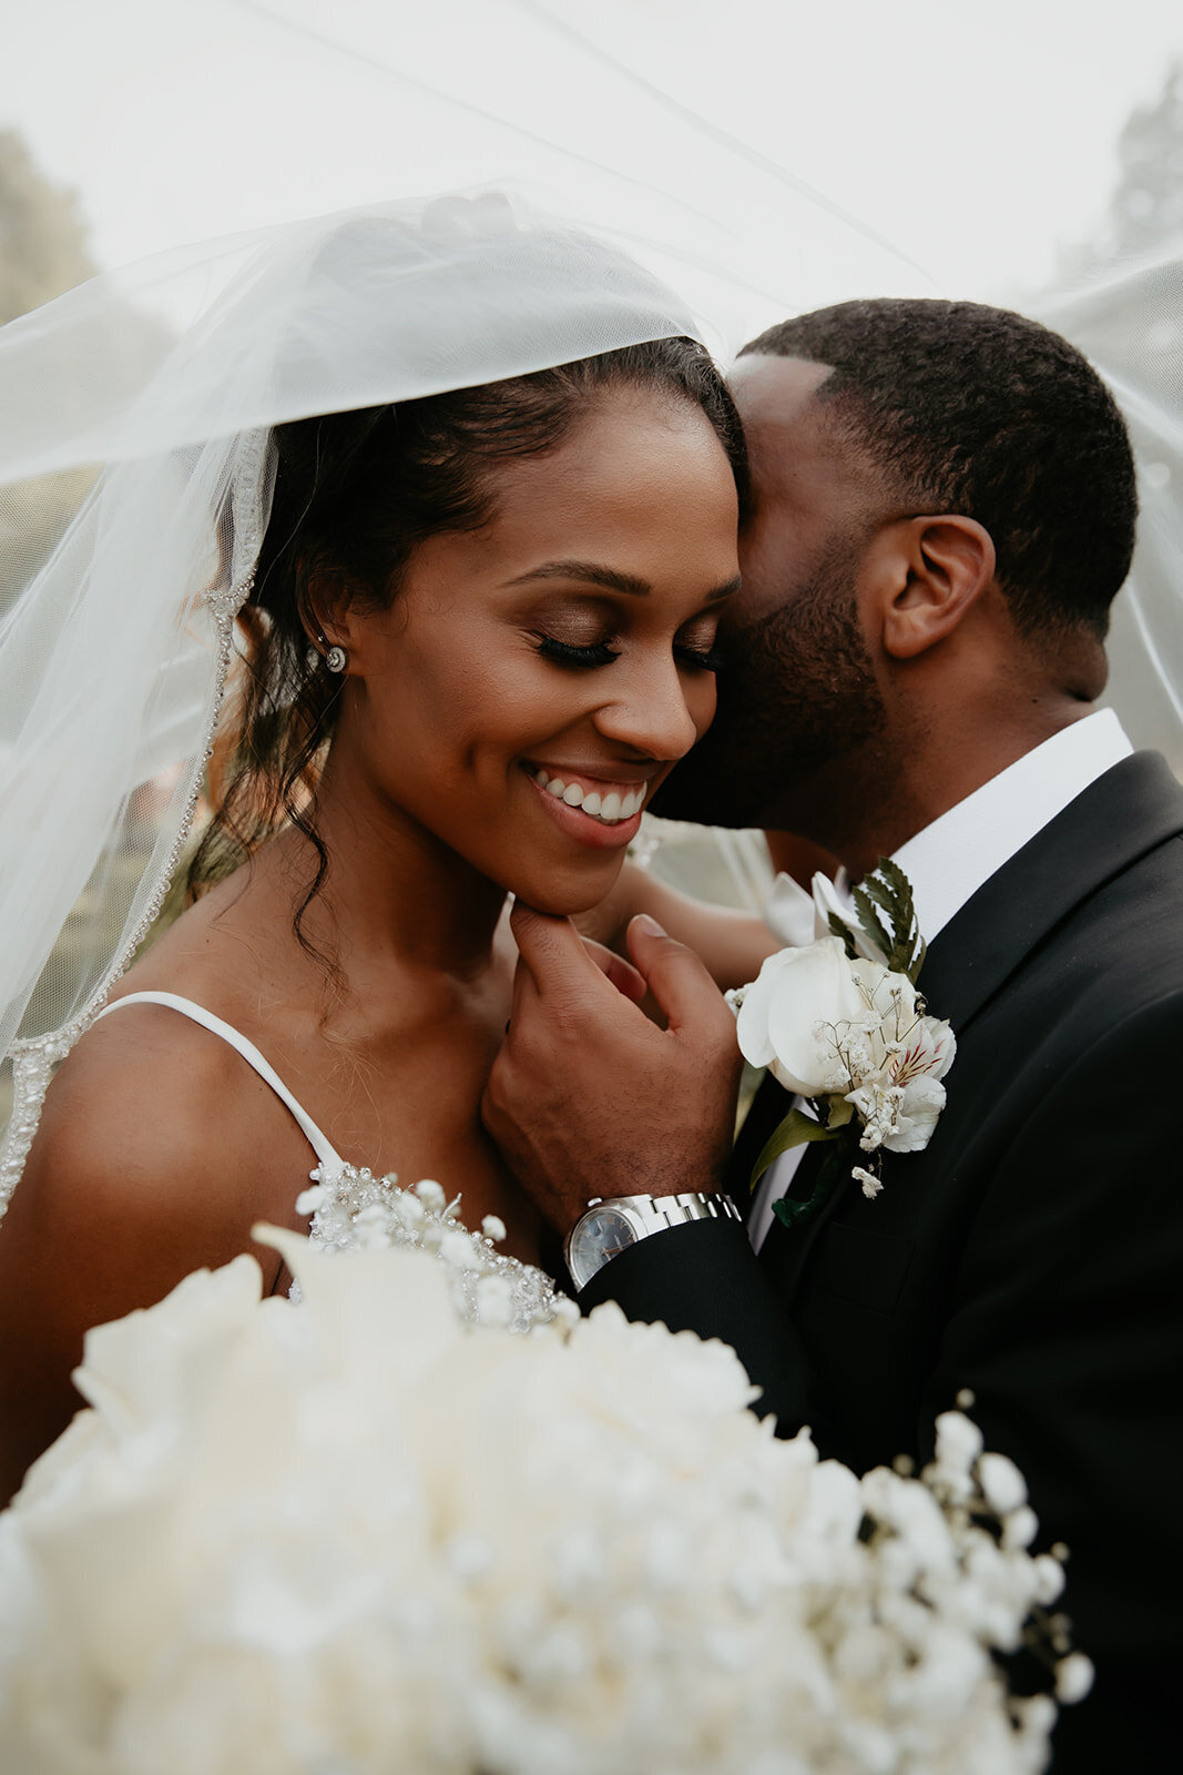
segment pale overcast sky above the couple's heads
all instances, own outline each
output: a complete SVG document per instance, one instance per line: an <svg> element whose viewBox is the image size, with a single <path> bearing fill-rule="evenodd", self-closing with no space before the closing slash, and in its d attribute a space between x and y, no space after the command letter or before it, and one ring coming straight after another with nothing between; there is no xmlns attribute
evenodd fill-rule
<svg viewBox="0 0 1183 1775"><path fill-rule="evenodd" d="M896 250L743 174L605 57ZM1179 0L9 0L0 126L78 190L105 264L500 179L646 233L642 181L706 259L727 211L772 312L1046 282L1172 57Z"/></svg>

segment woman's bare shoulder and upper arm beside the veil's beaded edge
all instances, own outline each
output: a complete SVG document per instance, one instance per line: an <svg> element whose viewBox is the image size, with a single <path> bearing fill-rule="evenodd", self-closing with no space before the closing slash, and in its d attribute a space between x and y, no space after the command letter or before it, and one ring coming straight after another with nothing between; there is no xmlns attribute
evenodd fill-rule
<svg viewBox="0 0 1183 1775"><path fill-rule="evenodd" d="M250 1241L268 1187L254 1086L225 1042L158 1005L103 1017L60 1067L0 1227L0 1500L78 1408L89 1326L239 1251L275 1285L277 1253Z"/></svg>

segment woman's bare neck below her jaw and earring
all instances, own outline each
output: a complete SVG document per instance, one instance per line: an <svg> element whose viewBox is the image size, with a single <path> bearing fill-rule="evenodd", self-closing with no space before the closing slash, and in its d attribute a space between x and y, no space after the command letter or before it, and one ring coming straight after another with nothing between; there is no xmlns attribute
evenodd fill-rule
<svg viewBox="0 0 1183 1775"><path fill-rule="evenodd" d="M323 895L303 927L355 966L411 960L452 976L481 974L505 889L490 880L424 825L380 797L355 772L333 770L317 792L316 831L328 854ZM302 891L316 852L294 829L282 841Z"/></svg>

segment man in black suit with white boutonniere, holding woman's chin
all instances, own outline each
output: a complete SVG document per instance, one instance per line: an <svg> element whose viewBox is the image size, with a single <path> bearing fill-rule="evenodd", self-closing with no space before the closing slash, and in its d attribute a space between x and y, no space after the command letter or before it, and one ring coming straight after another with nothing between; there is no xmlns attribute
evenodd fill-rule
<svg viewBox="0 0 1183 1775"><path fill-rule="evenodd" d="M958 1054L924 1152L786 1227L825 1147L727 1166L731 1012L647 919L647 1022L569 925L516 909L486 1122L580 1305L718 1335L780 1429L855 1468L928 1459L965 1393L1069 1546L1096 1692L1057 1771L1172 1766L1183 1567L1183 792L1105 685L1133 545L1124 426L1062 339L995 309L857 302L740 359L752 511L715 728L658 811L803 834L851 880L894 856ZM839 882L841 886L841 882ZM858 1156L857 1156L858 1157ZM798 1164L800 1159L800 1164ZM731 1218L729 1195L748 1211ZM592 1198L639 1196L621 1234ZM631 1242L628 1242L631 1239Z"/></svg>

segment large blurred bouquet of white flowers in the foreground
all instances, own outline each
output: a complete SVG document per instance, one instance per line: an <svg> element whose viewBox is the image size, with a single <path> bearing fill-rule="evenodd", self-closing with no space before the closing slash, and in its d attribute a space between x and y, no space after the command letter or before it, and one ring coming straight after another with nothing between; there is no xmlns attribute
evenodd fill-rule
<svg viewBox="0 0 1183 1775"><path fill-rule="evenodd" d="M239 1257L87 1338L0 1516L5 1775L1043 1766L991 1649L1061 1567L967 1418L857 1480L720 1344L465 1326L445 1255L271 1237L298 1301Z"/></svg>

